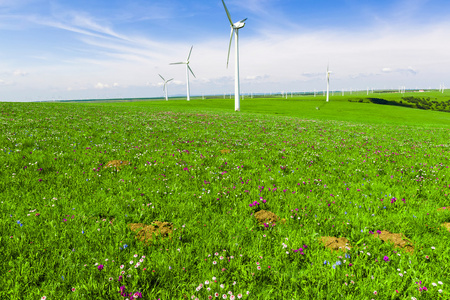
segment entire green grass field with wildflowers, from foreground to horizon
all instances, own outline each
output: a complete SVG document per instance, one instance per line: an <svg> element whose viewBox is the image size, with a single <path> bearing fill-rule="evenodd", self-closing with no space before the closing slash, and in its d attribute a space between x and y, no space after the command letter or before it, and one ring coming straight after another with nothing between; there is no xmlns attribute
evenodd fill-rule
<svg viewBox="0 0 450 300"><path fill-rule="evenodd" d="M0 103L0 295L449 299L450 114L342 98Z"/></svg>

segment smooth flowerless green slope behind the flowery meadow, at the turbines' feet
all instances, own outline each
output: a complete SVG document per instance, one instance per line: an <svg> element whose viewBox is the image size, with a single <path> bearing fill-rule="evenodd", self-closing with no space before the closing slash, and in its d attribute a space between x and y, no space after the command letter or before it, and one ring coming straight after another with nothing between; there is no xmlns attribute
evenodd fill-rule
<svg viewBox="0 0 450 300"><path fill-rule="evenodd" d="M410 93L418 94L418 93ZM385 97L385 94L371 94L376 97ZM369 97L371 96L369 95ZM381 95L381 96L380 96ZM408 95L408 94L406 94ZM436 111L423 111L418 109L377 105L369 103L348 102L348 99L357 99L364 95L334 96L326 103L322 96L300 96L288 98L260 98L241 100L241 113L257 113L282 115L303 119L337 120L349 122L362 122L372 124L413 125L426 127L449 127L450 114ZM394 99L394 96L390 96ZM397 97L399 95L397 94ZM398 98L397 98L398 99ZM89 104L98 105L98 104ZM102 105L153 107L172 111L214 111L233 112L234 100L191 100L185 101L139 101L139 102L110 102ZM319 109L317 109L319 108Z"/></svg>

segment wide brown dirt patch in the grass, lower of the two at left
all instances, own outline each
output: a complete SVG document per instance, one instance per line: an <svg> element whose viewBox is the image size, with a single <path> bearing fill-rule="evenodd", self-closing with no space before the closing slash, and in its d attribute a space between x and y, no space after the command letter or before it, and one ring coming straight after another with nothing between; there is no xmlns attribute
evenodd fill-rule
<svg viewBox="0 0 450 300"><path fill-rule="evenodd" d="M168 237L172 240L173 235L173 223L160 222L158 220L153 221L150 225L142 223L130 223L128 227L133 232L137 232L136 238L146 245L150 244L151 241L160 235L162 239Z"/></svg>

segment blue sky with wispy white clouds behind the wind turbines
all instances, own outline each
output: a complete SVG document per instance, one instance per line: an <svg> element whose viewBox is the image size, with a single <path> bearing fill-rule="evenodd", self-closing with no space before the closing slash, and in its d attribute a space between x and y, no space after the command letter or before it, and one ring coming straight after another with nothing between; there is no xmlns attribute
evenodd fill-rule
<svg viewBox="0 0 450 300"><path fill-rule="evenodd" d="M243 93L450 87L450 1L227 0ZM220 0L0 0L0 101L232 93ZM234 47L234 44L233 44Z"/></svg>

